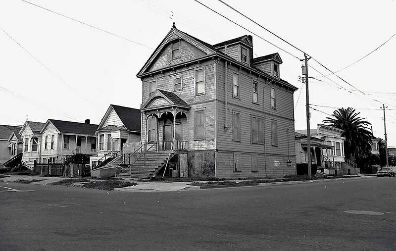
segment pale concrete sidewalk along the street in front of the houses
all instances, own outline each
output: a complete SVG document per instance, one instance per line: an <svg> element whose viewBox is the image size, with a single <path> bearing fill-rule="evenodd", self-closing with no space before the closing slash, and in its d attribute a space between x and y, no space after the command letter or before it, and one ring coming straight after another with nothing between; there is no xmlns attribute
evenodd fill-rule
<svg viewBox="0 0 396 251"><path fill-rule="evenodd" d="M344 180L344 179L360 179L360 178L372 178L369 175L359 175L356 178L338 178L338 179L321 179L321 180L308 180L308 181L281 181L281 182L267 182L267 183L259 183L254 186L279 186L279 185L291 185L291 184L304 184L304 183L312 183L312 182L331 182L336 180ZM57 182L60 180L69 179L69 177L43 177L43 176L28 176L28 175L11 175L8 177L0 178L2 182L15 182L17 180L40 180L37 182L32 182L30 184L36 185L47 185L52 182ZM90 179L96 180L96 179ZM97 180L103 181L103 180ZM129 180L128 180L129 181ZM234 182L242 182L244 180L231 180ZM187 182L147 182L147 181L131 181L135 182L138 185L132 187L125 188L114 188L114 191L124 191L124 192L169 192L169 191L185 191L185 190L199 190L201 187L199 186L191 186L187 185L193 183L193 181ZM206 181L199 181L199 183L206 183ZM246 186L226 186L226 185L218 185L218 186L205 186L205 189L224 189L224 188L241 188L241 187L250 187L251 185Z"/></svg>

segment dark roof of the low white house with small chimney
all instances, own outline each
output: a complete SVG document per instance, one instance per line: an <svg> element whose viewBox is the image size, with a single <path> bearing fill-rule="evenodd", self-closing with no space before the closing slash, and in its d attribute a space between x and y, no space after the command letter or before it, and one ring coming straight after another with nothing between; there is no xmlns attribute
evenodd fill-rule
<svg viewBox="0 0 396 251"><path fill-rule="evenodd" d="M95 135L98 125L72 121L49 119L42 129L42 133L51 123L60 133Z"/></svg>

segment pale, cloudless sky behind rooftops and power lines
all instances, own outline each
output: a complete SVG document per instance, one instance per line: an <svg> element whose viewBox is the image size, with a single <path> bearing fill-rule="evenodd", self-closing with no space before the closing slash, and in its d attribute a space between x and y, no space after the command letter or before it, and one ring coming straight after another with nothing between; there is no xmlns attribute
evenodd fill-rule
<svg viewBox="0 0 396 251"><path fill-rule="evenodd" d="M281 78L298 88L296 130L306 129L307 53L311 129L352 107L385 139L384 104L396 147L396 0L223 1L293 46L219 0L199 2L238 25L197 0L1 0L0 124L99 124L110 104L140 108L136 74L175 22L212 45L252 35L254 57L278 52Z"/></svg>

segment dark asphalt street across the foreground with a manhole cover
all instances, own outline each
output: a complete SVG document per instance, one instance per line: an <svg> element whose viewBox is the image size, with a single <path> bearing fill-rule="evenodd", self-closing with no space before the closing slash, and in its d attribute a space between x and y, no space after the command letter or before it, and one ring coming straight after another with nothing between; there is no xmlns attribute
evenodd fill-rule
<svg viewBox="0 0 396 251"><path fill-rule="evenodd" d="M143 193L0 182L0 250L396 250L396 178Z"/></svg>

